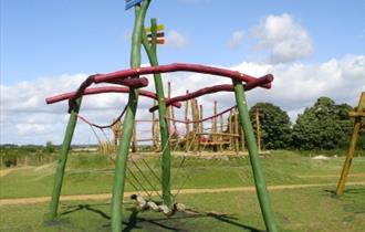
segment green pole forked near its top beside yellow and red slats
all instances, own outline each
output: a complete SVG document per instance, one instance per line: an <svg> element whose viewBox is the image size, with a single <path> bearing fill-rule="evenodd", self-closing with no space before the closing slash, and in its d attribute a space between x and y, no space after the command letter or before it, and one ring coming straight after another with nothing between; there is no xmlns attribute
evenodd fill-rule
<svg viewBox="0 0 365 232"><path fill-rule="evenodd" d="M158 66L157 60L157 22L156 19L150 20L150 31L152 31L152 44L148 46L148 40L146 34L143 34L143 44L147 52L148 60L152 66ZM170 194L170 160L171 151L169 145L169 131L166 114L165 94L161 81L161 75L159 73L154 74L155 88L158 102L158 117L159 117L159 128L161 136L161 148L163 148L163 200L168 207L171 207L171 194Z"/></svg>

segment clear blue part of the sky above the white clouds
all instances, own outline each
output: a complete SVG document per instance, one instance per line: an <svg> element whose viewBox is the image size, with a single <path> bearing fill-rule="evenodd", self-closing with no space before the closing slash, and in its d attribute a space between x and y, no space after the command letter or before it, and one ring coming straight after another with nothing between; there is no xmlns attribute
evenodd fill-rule
<svg viewBox="0 0 365 232"><path fill-rule="evenodd" d="M315 52L305 62L364 53L364 1L155 0L147 17L190 41L161 48L160 63L176 61L236 65L259 60L254 40L228 49L230 34L249 33L268 14L289 13L309 32ZM124 1L2 0L1 82L64 73L109 72L128 64L133 11ZM257 54L259 53L259 55ZM261 51L262 53L262 51Z"/></svg>

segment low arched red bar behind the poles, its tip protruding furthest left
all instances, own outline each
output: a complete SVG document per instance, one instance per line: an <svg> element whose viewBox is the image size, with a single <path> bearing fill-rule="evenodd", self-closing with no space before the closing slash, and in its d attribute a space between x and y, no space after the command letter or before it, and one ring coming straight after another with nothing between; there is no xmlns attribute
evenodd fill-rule
<svg viewBox="0 0 365 232"><path fill-rule="evenodd" d="M144 91L144 89L138 89L138 91L139 91L139 94L142 96L146 96L146 97L149 97L149 98L153 98L153 99L157 99L156 94L154 94L153 92ZM119 86L95 87L95 88L85 89L82 95L93 95L93 94L103 94L103 93L129 93L129 88L128 87L119 87ZM45 98L45 103L46 104L53 104L53 103L58 103L58 102L65 101L65 99L72 99L72 98L75 97L75 95L76 95L76 92L60 94L60 95L56 95L56 96ZM169 101L169 99L166 98L166 101ZM181 107L181 103L179 103L179 102L175 102L173 105L177 108Z"/></svg>

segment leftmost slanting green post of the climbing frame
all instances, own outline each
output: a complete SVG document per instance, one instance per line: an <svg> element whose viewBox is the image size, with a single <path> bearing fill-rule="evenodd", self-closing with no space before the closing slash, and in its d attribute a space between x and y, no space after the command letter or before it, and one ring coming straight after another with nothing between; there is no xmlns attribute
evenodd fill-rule
<svg viewBox="0 0 365 232"><path fill-rule="evenodd" d="M77 114L80 110L81 102L82 102L82 97L77 98L75 107L70 113L70 119L67 123L66 131L64 134L61 154L58 161L56 171L54 175L53 192L50 202L50 212L48 217L49 220L53 220L58 215L60 194L61 194L62 182L64 177L64 169L66 167L67 155L69 155L73 133L75 131L75 127L77 123Z"/></svg>

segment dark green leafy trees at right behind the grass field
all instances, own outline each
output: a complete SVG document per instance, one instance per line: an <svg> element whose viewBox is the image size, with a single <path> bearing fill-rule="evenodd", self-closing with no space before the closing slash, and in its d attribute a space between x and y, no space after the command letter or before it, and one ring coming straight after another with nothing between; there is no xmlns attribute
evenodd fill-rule
<svg viewBox="0 0 365 232"><path fill-rule="evenodd" d="M271 103L255 104L250 108L250 116L255 129L259 112L261 146L265 149L343 149L348 147L353 131L351 110L354 108L348 104L335 104L330 97L320 97L298 115L294 124L285 110ZM365 149L364 133L358 147Z"/></svg>

